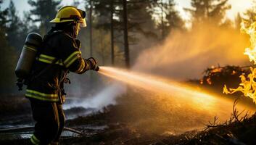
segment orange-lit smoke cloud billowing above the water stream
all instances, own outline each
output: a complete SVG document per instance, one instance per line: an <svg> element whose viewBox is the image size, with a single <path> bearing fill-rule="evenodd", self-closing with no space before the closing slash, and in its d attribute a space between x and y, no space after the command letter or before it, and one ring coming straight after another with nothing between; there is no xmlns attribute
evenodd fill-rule
<svg viewBox="0 0 256 145"><path fill-rule="evenodd" d="M162 44L143 51L133 69L176 80L199 78L212 65L245 65L248 45L239 30L204 24L170 33Z"/></svg>

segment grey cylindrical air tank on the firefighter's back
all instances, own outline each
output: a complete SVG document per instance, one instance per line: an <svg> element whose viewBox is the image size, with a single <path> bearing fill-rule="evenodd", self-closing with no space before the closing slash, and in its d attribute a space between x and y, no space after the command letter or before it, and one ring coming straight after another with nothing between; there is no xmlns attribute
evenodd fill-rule
<svg viewBox="0 0 256 145"><path fill-rule="evenodd" d="M15 68L17 78L28 78L38 49L42 44L42 37L38 33L29 33L22 48L20 58Z"/></svg>

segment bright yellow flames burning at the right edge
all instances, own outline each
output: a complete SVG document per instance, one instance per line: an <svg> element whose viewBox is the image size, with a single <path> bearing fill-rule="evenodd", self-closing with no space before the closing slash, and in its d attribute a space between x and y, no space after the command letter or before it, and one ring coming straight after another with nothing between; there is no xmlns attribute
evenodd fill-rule
<svg viewBox="0 0 256 145"><path fill-rule="evenodd" d="M251 46L245 49L244 54L249 57L250 62L256 64L256 22L249 25L249 22L241 22L241 32L247 33L250 36ZM247 76L240 75L241 83L238 88L227 88L225 85L223 88L224 94L234 94L237 91L241 91L244 96L251 98L256 104L256 68L250 67L251 73Z"/></svg>

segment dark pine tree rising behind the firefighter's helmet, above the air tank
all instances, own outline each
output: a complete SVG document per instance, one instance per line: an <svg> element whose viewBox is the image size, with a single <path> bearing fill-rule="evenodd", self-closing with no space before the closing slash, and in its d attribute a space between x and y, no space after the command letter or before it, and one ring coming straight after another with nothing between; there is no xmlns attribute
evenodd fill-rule
<svg viewBox="0 0 256 145"><path fill-rule="evenodd" d="M40 22L39 32L44 35L48 30L51 29L49 21L54 19L59 8L60 0L28 0L33 9L30 10L30 19L33 22Z"/></svg>

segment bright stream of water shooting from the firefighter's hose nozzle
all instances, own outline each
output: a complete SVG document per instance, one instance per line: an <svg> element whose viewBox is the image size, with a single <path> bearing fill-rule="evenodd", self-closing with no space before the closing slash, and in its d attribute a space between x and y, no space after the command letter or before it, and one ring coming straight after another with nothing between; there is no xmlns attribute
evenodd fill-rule
<svg viewBox="0 0 256 145"><path fill-rule="evenodd" d="M213 110L216 107L216 103L220 101L217 97L198 91L190 86L185 86L176 81L158 78L153 75L146 75L114 67L100 67L99 73L115 80L120 80L123 83L128 83L131 86L143 88L147 91L178 97L180 101L190 102L190 105L197 108L200 107L200 109Z"/></svg>

